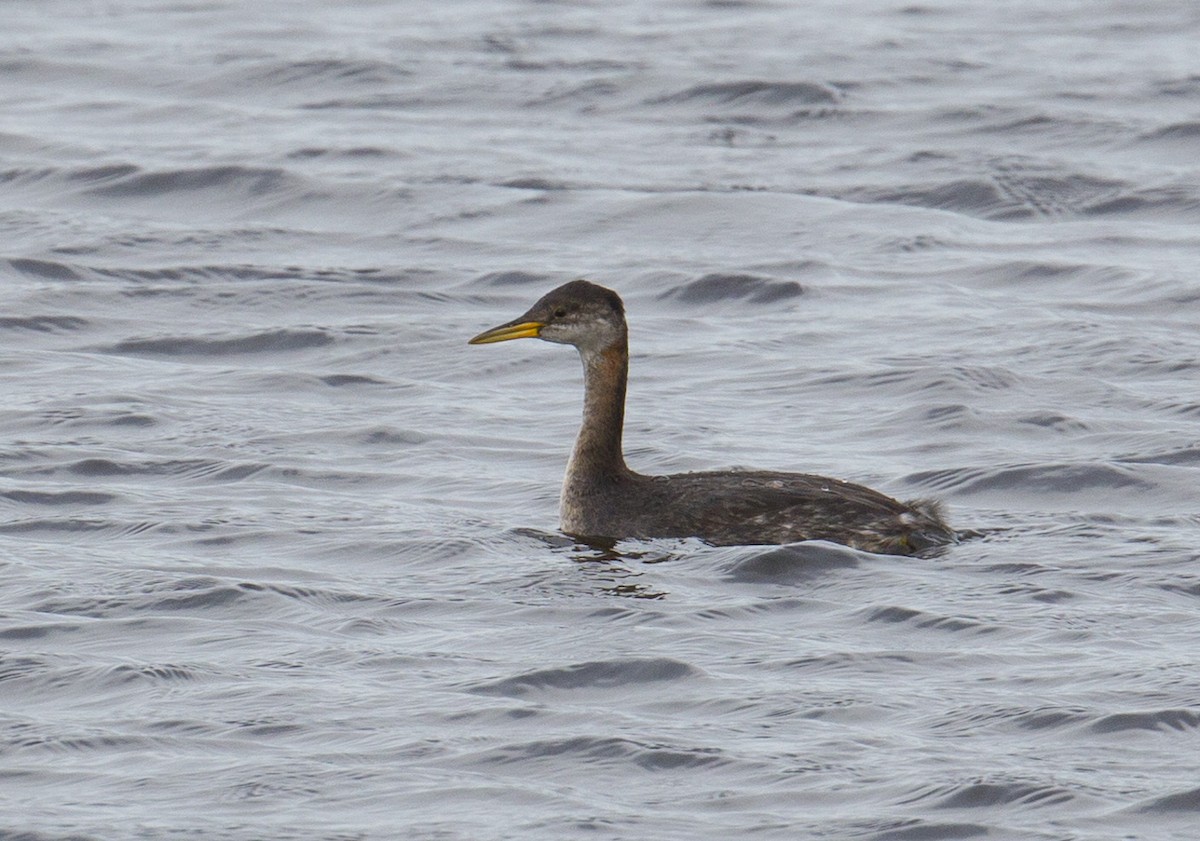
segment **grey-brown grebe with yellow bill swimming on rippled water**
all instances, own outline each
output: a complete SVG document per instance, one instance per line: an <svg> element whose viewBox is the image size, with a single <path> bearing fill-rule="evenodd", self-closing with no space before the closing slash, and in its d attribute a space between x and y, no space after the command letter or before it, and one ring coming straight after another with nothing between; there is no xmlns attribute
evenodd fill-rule
<svg viewBox="0 0 1200 841"><path fill-rule="evenodd" d="M514 338L572 344L583 360L583 422L559 511L566 534L600 541L700 537L719 546L828 540L886 554L955 541L938 503L901 503L839 479L770 470L666 476L631 470L622 450L629 328L612 289L571 281L469 343Z"/></svg>

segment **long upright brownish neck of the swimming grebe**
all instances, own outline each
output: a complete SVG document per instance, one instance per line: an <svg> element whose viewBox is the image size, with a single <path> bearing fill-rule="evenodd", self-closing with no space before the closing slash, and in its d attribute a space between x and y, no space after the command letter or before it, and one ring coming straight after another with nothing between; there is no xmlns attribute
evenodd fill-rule
<svg viewBox="0 0 1200 841"><path fill-rule="evenodd" d="M625 423L629 348L624 336L583 358L583 423L568 473L577 479L611 479L629 473L620 449Z"/></svg>

